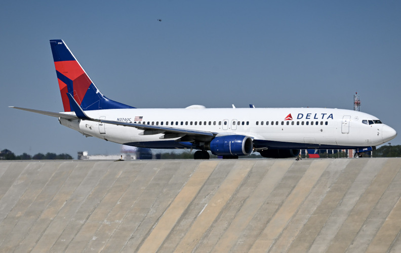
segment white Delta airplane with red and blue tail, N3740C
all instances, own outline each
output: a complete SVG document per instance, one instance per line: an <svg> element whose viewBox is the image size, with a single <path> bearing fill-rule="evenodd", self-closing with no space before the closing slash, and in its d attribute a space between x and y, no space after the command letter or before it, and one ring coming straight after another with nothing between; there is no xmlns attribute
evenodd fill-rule
<svg viewBox="0 0 401 253"><path fill-rule="evenodd" d="M300 149L375 149L397 133L377 117L330 108L140 109L104 96L62 39L50 40L64 112L15 109L57 117L86 137L154 149L190 149L194 159L259 152L297 157ZM360 155L357 154L357 155Z"/></svg>

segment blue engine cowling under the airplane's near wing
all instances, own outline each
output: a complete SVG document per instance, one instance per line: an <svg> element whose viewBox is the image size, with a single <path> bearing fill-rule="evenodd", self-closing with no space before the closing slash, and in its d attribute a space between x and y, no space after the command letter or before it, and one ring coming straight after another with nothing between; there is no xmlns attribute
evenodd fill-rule
<svg viewBox="0 0 401 253"><path fill-rule="evenodd" d="M252 139L243 135L226 135L214 138L208 145L215 155L249 155L253 150Z"/></svg>

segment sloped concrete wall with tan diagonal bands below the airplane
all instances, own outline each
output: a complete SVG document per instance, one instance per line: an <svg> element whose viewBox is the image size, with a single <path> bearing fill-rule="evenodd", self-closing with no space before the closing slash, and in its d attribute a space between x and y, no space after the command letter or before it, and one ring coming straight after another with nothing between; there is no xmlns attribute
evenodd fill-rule
<svg viewBox="0 0 401 253"><path fill-rule="evenodd" d="M1 252L401 252L401 159L0 162Z"/></svg>

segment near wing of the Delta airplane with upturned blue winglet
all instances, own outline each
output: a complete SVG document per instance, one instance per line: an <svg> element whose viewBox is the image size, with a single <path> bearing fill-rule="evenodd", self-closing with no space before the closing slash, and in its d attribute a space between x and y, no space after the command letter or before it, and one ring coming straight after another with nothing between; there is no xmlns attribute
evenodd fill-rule
<svg viewBox="0 0 401 253"><path fill-rule="evenodd" d="M179 128L170 128L168 126L159 126L159 125L146 125L146 124L138 124L138 123L129 123L129 122L121 122L121 121L113 121L113 120L103 120L89 117L85 111L76 103L75 99L71 94L67 93L67 96L72 104L72 109L74 110L76 116L81 119L97 121L107 124L114 125L123 125L130 126L133 128L141 129L141 130L154 130L155 132L149 133L151 134L166 134L166 133L175 133L175 134L186 134L186 135L203 135L203 136L215 136L218 133L206 132L206 131L196 131L189 129L179 129Z"/></svg>

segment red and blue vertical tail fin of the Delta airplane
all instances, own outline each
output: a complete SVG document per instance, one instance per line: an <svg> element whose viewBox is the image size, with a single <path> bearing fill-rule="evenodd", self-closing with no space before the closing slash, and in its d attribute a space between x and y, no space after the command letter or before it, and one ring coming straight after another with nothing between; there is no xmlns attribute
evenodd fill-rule
<svg viewBox="0 0 401 253"><path fill-rule="evenodd" d="M67 93L83 110L134 108L103 96L62 39L50 40L64 111L72 111Z"/></svg>

